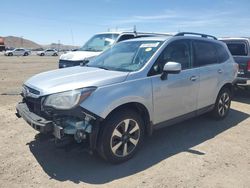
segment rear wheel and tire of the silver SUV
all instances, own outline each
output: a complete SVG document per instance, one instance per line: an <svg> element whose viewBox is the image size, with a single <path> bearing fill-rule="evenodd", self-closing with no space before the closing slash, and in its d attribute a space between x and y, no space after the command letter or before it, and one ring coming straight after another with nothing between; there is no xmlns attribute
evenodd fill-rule
<svg viewBox="0 0 250 188"><path fill-rule="evenodd" d="M219 92L212 115L214 118L220 120L224 119L230 110L232 100L232 93L228 88L222 88Z"/></svg>

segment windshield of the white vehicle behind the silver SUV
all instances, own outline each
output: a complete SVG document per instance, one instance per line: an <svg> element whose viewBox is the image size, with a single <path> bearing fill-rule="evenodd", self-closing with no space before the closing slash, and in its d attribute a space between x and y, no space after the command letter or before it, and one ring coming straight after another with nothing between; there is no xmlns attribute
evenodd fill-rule
<svg viewBox="0 0 250 188"><path fill-rule="evenodd" d="M116 41L118 34L94 35L79 51L101 52L108 49Z"/></svg>

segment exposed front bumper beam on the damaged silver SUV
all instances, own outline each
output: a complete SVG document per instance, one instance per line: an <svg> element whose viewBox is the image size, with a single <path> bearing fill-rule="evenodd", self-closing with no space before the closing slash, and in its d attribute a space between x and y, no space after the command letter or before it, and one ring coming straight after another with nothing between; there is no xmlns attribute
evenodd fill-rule
<svg viewBox="0 0 250 188"><path fill-rule="evenodd" d="M31 127L41 133L53 133L54 125L52 121L48 121L29 110L25 103L19 103L16 106L16 115L22 117Z"/></svg>

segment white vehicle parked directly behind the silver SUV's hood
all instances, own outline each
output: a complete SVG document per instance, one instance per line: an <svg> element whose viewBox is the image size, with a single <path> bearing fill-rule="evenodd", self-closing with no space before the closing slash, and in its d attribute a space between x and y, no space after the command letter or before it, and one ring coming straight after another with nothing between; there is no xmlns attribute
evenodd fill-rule
<svg viewBox="0 0 250 188"><path fill-rule="evenodd" d="M62 54L59 58L59 68L78 66L87 63L90 59L109 49L114 44L138 37L148 37L155 35L166 35L162 33L137 33L137 32L105 32L94 35L83 47L76 51Z"/></svg>

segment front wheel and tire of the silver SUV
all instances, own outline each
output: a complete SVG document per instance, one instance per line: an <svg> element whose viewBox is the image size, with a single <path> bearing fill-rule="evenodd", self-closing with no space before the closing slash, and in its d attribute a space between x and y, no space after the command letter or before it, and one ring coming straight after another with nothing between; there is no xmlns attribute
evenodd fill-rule
<svg viewBox="0 0 250 188"><path fill-rule="evenodd" d="M129 160L143 142L143 120L133 110L113 113L102 126L98 153L110 163Z"/></svg>

